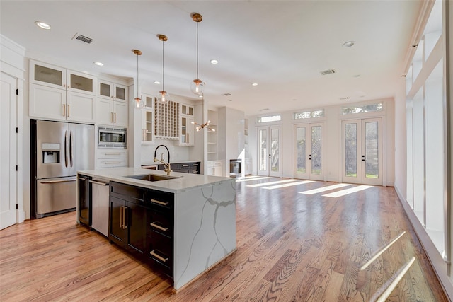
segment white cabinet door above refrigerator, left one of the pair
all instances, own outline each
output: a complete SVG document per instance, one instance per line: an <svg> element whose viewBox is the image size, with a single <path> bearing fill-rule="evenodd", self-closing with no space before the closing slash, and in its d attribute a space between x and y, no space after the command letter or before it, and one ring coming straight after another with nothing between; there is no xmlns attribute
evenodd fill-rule
<svg viewBox="0 0 453 302"><path fill-rule="evenodd" d="M30 84L30 117L66 120L66 91Z"/></svg>

